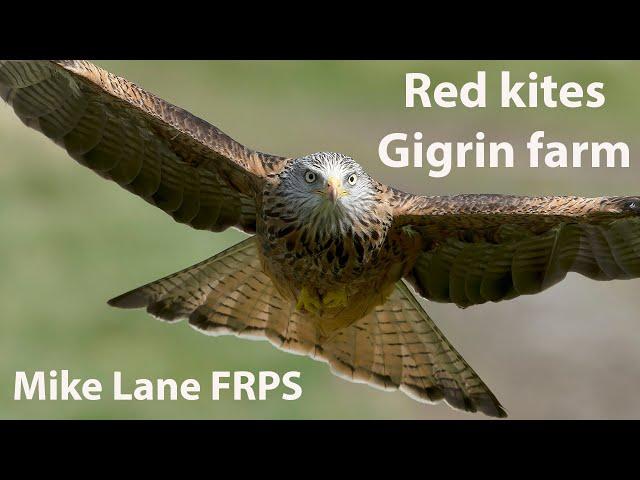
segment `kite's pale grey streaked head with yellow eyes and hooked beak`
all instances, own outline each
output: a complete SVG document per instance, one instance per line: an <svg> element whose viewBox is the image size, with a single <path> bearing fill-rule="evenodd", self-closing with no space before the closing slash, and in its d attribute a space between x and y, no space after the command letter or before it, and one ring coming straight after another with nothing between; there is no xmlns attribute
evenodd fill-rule
<svg viewBox="0 0 640 480"><path fill-rule="evenodd" d="M374 181L352 158L320 152L295 160L282 179L289 207L326 227L353 224L375 204Z"/></svg>

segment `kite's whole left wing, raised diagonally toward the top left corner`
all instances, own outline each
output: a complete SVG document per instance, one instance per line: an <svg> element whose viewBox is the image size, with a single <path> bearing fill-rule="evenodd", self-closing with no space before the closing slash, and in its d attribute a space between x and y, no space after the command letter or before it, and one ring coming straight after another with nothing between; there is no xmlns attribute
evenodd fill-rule
<svg viewBox="0 0 640 480"><path fill-rule="evenodd" d="M0 61L0 96L79 163L198 229L255 231L255 194L287 162L85 61Z"/></svg>

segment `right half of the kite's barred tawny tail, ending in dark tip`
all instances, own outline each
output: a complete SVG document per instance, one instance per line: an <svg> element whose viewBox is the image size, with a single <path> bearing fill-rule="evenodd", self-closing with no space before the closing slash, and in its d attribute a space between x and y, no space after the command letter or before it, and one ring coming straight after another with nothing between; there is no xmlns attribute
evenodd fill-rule
<svg viewBox="0 0 640 480"><path fill-rule="evenodd" d="M445 400L458 410L507 416L404 281L385 304L321 348L332 370L353 382L399 389L421 402Z"/></svg>

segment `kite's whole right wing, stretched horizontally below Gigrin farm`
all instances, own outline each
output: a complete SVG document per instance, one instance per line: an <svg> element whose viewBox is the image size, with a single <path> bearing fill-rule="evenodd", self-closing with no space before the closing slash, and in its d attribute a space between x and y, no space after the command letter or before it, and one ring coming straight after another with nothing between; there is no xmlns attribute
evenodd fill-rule
<svg viewBox="0 0 640 480"><path fill-rule="evenodd" d="M461 307L539 293L568 272L640 277L640 197L421 197L393 191L394 226L420 235L406 279Z"/></svg>

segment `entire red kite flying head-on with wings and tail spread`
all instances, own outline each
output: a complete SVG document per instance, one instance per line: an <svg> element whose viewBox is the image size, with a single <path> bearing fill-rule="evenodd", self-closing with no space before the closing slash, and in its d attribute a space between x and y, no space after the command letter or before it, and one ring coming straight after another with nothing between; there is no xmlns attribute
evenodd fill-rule
<svg viewBox="0 0 640 480"><path fill-rule="evenodd" d="M541 292L568 272L640 276L640 197L412 195L339 153L250 150L86 61L2 61L0 96L174 220L253 234L110 305L267 339L419 401L506 416L411 288L469 307Z"/></svg>

